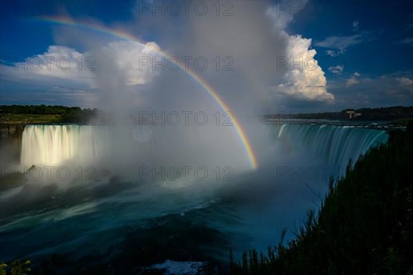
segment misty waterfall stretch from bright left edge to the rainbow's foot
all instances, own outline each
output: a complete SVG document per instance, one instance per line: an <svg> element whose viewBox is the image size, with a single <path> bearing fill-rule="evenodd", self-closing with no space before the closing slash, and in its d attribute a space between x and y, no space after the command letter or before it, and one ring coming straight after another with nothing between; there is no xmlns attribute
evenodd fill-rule
<svg viewBox="0 0 413 275"><path fill-rule="evenodd" d="M28 125L21 165L220 165L248 168L242 144L231 127L152 125Z"/></svg>

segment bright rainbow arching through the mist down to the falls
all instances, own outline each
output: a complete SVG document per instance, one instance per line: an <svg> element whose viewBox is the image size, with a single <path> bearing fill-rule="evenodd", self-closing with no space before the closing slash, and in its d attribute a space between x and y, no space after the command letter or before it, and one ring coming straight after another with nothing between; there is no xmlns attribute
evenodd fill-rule
<svg viewBox="0 0 413 275"><path fill-rule="evenodd" d="M138 43L138 45L147 47L145 43L142 43L140 39L138 39L136 36L132 36L131 34L128 34L127 32L124 32L122 30L112 30L107 28L104 25L101 24L96 24L96 23L78 23L70 19L69 17L36 17L36 21L43 21L43 22L48 22L48 23L55 23L59 25L68 25L68 26L74 26L76 28L85 28L86 30L94 30L95 32L100 32L102 34L110 34L112 36L118 37L120 39L126 39L128 41L132 41L134 43ZM195 72L191 71L191 69L182 69L175 60L175 58L171 58L173 56L167 54L167 52L163 52L162 50L154 49L152 47L149 48L152 52L155 52L156 54L159 54L160 56L163 56L165 58L168 58L171 63L174 63L174 65L177 65L182 72L190 76L193 80L195 80L202 89L207 91L207 93L215 100L215 102L218 104L218 106L222 109L224 112L231 112L231 109L229 109L228 105L220 98L219 94L217 91L211 87L207 82L202 80L200 76L195 74ZM246 137L244 130L241 127L240 122L237 121L237 119L233 116L232 117L232 122L233 126L235 127L235 131L237 131L237 135L240 137L240 141L242 142L242 145L244 146L246 155L248 157L248 162L251 165L251 168L253 170L257 169L257 160L255 158L255 155L253 153L253 149L251 147L251 144L248 142L248 138Z"/></svg>

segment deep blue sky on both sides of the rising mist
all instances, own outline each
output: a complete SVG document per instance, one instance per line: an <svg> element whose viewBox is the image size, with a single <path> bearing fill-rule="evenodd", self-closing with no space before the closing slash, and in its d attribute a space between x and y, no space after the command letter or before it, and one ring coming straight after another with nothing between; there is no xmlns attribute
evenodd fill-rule
<svg viewBox="0 0 413 275"><path fill-rule="evenodd" d="M321 76L321 73L283 76L280 72L274 72L275 75L280 75L275 76L273 80L266 80L263 84L266 96L264 99L261 97L257 100L257 102L266 101L263 110L290 108L329 111L347 107L413 104L413 3L411 1L259 2L260 5L273 7L273 22L278 28L277 31L288 34L287 42L284 44L287 45L284 54L288 51L295 53L296 50L290 50L288 47L304 42L298 39L294 42L297 44L291 44L294 40L293 36L300 35L302 39L311 39L306 49L317 52L314 58L324 72L324 76ZM202 31L209 33L209 30L205 30L191 18L199 14L193 15L191 8L189 8L189 15L184 14L182 1L174 1L181 9L178 15L171 14L174 12L175 4L171 5L169 1L1 0L0 3L0 104L63 104L93 107L91 106L93 100L85 100L82 94L89 96L96 94L98 88L91 84L92 82L76 81L76 78L83 80L94 78L93 73L71 75L69 71L66 74L65 72L52 74L49 71L50 74L47 72L41 74L40 71L30 67L24 70L22 65L17 65L18 69L13 68L16 68L16 63L24 63L27 58L45 56L45 53L50 53L48 49L52 45L58 46L53 54L71 56L74 52L83 54L105 47L112 41L118 41L119 38L99 34L87 28L64 26L42 20L45 17L70 19L76 23L123 30L140 37L141 42L153 41L160 49L171 50L172 55L178 52L178 50L174 52L174 49L182 48L190 55L191 41L199 39L198 36L202 35ZM215 10L216 1L204 1L204 3L207 3L209 13L218 12ZM229 10L235 13L239 3L240 1L222 1L218 4L219 12ZM154 5L160 8L153 10ZM162 9L165 16L160 14ZM266 14L262 14L262 17L265 16ZM248 14L243 15L242 20L246 22L246 26L248 22L252 25L256 21L253 15L250 18ZM271 24L271 20L267 22ZM244 27L244 31L248 32L246 29ZM184 41L184 47L180 47L180 41ZM211 41L211 46L216 43ZM259 44L260 41L255 43ZM204 44L209 46L208 42ZM65 47L66 50L62 51L63 48L60 47ZM234 50L237 50L236 46ZM255 50L251 49L251 51ZM179 53L182 55L182 52ZM264 54L268 56L268 52L263 52ZM279 52L274 49L273 55L277 56L277 54ZM248 52L243 55L248 55ZM248 72L245 66L243 69ZM268 69L273 67L268 66ZM325 87L319 92L321 96L310 96L311 92L307 93L307 88L299 90L303 89L300 87L308 87L310 85L308 83L319 83L310 79L319 76L326 79ZM220 77L206 77L219 91ZM138 83L136 87L149 82L149 80L136 81ZM150 81L153 79L151 78ZM282 86L279 85L280 83ZM322 79L321 83L323 83ZM62 94L62 90L68 92ZM326 100L322 94L332 94L334 100ZM268 108L268 105L272 107Z"/></svg>

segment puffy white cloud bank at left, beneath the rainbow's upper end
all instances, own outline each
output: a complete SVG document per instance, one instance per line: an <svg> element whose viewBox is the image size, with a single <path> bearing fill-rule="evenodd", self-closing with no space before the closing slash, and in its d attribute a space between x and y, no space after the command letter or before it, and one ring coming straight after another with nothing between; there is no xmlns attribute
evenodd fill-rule
<svg viewBox="0 0 413 275"><path fill-rule="evenodd" d="M142 58L152 58L160 50L149 42L140 45L131 41L113 41L98 50L80 53L75 49L50 45L47 52L25 58L23 62L2 65L2 73L8 80L46 80L61 85L62 81L98 87L101 72L122 74L125 85L145 84L151 81L154 70L151 66L140 66ZM158 57L160 59L160 57Z"/></svg>

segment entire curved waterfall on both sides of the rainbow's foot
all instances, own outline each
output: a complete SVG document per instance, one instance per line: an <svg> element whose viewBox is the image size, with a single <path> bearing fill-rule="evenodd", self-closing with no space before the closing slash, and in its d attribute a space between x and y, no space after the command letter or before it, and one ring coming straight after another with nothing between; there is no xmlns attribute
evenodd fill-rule
<svg viewBox="0 0 413 275"><path fill-rule="evenodd" d="M269 142L290 154L306 153L345 169L372 146L387 141L385 131L349 126L266 124ZM23 131L21 164L98 165L128 170L142 165L211 165L248 169L242 144L231 129L129 125L28 125ZM273 152L277 153L277 152Z"/></svg>

